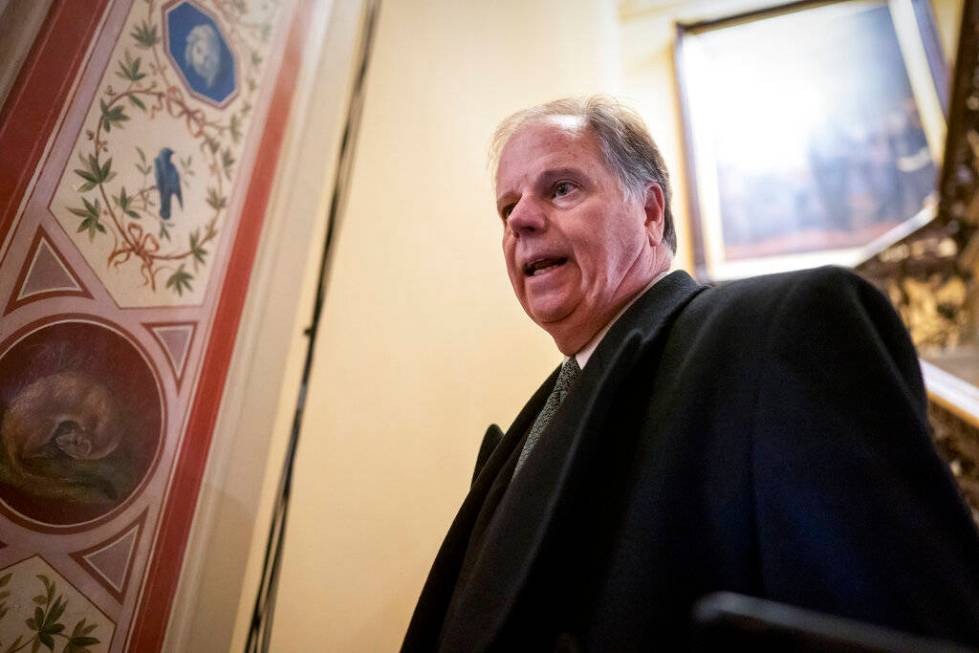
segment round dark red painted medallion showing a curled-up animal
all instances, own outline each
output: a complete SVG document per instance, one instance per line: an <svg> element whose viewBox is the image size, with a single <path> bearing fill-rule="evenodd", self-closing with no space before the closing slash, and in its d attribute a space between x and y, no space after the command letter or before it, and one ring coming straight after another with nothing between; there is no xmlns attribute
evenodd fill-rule
<svg viewBox="0 0 979 653"><path fill-rule="evenodd" d="M133 497L164 414L146 356L92 321L28 327L0 345L0 504L18 521L74 526Z"/></svg>

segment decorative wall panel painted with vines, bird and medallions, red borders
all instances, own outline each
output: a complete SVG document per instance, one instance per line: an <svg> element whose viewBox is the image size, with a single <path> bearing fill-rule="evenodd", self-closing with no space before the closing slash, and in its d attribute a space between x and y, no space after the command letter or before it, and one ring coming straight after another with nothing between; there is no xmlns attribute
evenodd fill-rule
<svg viewBox="0 0 979 653"><path fill-rule="evenodd" d="M4 106L0 650L160 647L306 4L55 2Z"/></svg>

